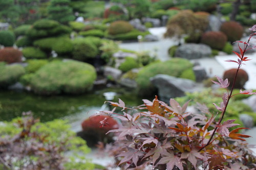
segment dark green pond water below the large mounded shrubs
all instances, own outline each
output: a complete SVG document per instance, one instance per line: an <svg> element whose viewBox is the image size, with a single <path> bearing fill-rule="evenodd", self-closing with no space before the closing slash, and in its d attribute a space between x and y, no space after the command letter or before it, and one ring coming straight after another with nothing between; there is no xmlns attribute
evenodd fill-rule
<svg viewBox="0 0 256 170"><path fill-rule="evenodd" d="M10 121L22 115L22 112L32 111L41 122L56 118L80 119L81 116L93 114L100 110L106 101L103 93L115 91L114 102L120 98L127 106L143 104L142 99L134 92L125 89L103 89L81 95L40 96L25 91L0 91L0 122ZM80 117L79 117L79 116Z"/></svg>

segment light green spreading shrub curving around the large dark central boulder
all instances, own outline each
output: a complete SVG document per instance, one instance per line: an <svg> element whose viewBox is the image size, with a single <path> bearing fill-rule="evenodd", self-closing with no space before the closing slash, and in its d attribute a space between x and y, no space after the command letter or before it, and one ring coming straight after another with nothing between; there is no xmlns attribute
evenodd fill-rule
<svg viewBox="0 0 256 170"><path fill-rule="evenodd" d="M141 95L151 95L154 89L150 82L150 78L158 74L165 74L174 77L180 77L182 72L191 68L193 64L186 59L173 58L165 62L153 62L142 67L138 72L136 82L139 86L139 93Z"/></svg>

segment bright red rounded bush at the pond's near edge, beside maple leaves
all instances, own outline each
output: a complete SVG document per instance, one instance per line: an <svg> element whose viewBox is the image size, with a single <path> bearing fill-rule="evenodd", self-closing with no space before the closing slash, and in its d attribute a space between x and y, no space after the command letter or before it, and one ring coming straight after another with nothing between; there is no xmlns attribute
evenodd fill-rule
<svg viewBox="0 0 256 170"><path fill-rule="evenodd" d="M100 121L106 120L105 126L102 127ZM84 120L82 122L82 130L83 131L94 131L97 133L105 134L110 130L118 129L118 123L116 120L110 116L106 115L95 115L90 118Z"/></svg>

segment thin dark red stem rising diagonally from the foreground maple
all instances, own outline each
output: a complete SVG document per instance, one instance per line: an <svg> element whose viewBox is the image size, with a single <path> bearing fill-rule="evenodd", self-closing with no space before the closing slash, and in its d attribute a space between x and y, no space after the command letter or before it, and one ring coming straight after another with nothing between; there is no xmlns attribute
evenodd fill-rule
<svg viewBox="0 0 256 170"><path fill-rule="evenodd" d="M251 37L250 37L250 38L251 38ZM248 39L248 41L247 41L247 43L246 43L246 46L245 46L244 49L243 49L243 54L242 54L242 56L241 56L241 63L238 65L237 72L236 72L236 75L234 76L233 84L232 84L230 93L229 93L229 95L228 95L227 103L226 103L226 105L225 105L225 107L224 107L224 109L223 109L223 111L222 111L221 117L220 117L220 119L219 119L217 125L220 125L220 124L221 124L222 119L223 119L223 117L224 117L224 115L225 115L225 113L226 113L226 109L227 109L229 100L230 100L230 98L231 98L231 96L232 96L232 92L233 92L233 89L234 89L234 84L236 83L236 80L237 80L238 71L239 71L240 67L242 66L242 62L243 62L243 59L244 59L244 54L245 54L245 52L246 52L246 48L248 47L248 43L249 43L249 41L250 41L250 38ZM211 134L210 139L208 140L208 142L207 142L198 152L202 151L205 147L207 147L207 145L209 145L210 143L212 143L211 140L212 140L212 138L214 137L214 135L215 135L217 129L218 129L218 127L216 126L215 129L214 129L214 132L212 132L212 134ZM217 138L218 138L218 137L217 137ZM215 139L216 139L216 138L215 138ZM214 140L215 140L215 139L214 139ZM212 141L214 141L214 140L212 140Z"/></svg>

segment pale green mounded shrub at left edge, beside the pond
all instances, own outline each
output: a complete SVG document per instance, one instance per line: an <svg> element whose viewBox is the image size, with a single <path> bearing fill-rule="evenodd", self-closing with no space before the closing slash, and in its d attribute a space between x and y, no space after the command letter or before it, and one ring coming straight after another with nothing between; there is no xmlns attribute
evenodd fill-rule
<svg viewBox="0 0 256 170"><path fill-rule="evenodd" d="M25 69L21 65L6 65L0 62L0 88L7 88L16 83L25 74Z"/></svg>

